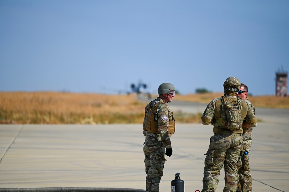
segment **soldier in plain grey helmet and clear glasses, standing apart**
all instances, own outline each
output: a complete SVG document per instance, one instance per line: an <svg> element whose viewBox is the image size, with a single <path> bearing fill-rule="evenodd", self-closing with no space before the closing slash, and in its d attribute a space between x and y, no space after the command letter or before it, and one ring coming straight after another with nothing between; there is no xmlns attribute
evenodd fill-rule
<svg viewBox="0 0 289 192"><path fill-rule="evenodd" d="M159 85L159 96L145 108L143 119L143 135L146 140L143 147L146 166L146 191L159 191L159 183L163 176L165 155L172 155L170 137L175 132L173 113L166 103L172 102L176 90L171 83ZM165 152L166 151L166 152Z"/></svg>

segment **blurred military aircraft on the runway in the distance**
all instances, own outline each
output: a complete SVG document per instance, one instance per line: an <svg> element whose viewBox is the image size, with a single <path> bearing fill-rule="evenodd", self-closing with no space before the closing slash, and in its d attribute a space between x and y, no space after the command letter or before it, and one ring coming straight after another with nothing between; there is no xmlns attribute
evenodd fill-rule
<svg viewBox="0 0 289 192"><path fill-rule="evenodd" d="M130 85L130 89L131 90L127 90L127 89L111 89L111 88L106 88L104 87L105 90L110 90L110 91L114 91L114 92L118 92L119 94L125 93L125 94L132 94L132 93L136 93L138 98L141 98L142 95L147 95L148 98L151 98L151 93L146 91L146 89L148 88L146 83L142 83L141 81L139 81L138 84L134 84L132 83Z"/></svg>

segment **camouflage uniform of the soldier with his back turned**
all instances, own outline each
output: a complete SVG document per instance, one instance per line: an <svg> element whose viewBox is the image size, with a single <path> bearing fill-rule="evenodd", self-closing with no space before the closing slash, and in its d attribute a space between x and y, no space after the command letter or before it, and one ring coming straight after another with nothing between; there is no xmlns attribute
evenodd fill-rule
<svg viewBox="0 0 289 192"><path fill-rule="evenodd" d="M225 91L225 100L229 103L236 102L235 92ZM250 126L257 125L257 119L246 102L242 101L242 120L246 120ZM241 166L241 152L243 149L243 130L230 130L216 125L216 119L221 117L221 99L212 100L202 115L202 123L205 125L213 124L214 135L210 138L210 145L205 158L205 168L203 177L202 192L216 191L219 182L219 175L222 166L225 170L224 192L236 191L238 183L238 169Z"/></svg>

